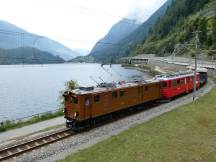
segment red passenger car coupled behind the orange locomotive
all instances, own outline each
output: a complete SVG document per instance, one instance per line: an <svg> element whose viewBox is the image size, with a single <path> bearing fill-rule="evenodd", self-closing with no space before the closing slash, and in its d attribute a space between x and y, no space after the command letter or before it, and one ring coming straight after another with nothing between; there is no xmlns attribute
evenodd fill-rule
<svg viewBox="0 0 216 162"><path fill-rule="evenodd" d="M193 91L194 73L179 73L175 75L162 75L158 77L162 83L162 96L171 99L175 96ZM196 88L200 87L200 74L196 75Z"/></svg>

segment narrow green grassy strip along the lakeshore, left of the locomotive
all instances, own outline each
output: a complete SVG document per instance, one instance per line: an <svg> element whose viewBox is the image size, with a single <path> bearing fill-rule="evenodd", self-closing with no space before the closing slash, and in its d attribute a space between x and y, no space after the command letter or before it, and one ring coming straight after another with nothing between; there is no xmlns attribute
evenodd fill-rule
<svg viewBox="0 0 216 162"><path fill-rule="evenodd" d="M58 116L63 116L64 113L62 111L62 109L59 109L56 112L48 112L48 113L44 113L41 115L37 115L37 116L33 116L32 118L28 119L28 120L21 120L21 121L5 121L4 123L1 123L0 125L0 132L4 132L7 130L11 130L11 129L15 129L15 128L21 128L27 125L31 125L37 122L41 122L44 120L49 120Z"/></svg>

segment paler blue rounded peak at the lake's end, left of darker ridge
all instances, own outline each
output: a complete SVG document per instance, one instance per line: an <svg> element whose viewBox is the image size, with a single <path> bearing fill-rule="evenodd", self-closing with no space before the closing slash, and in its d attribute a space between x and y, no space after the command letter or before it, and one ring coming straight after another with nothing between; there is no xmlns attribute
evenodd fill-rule
<svg viewBox="0 0 216 162"><path fill-rule="evenodd" d="M104 38L96 43L89 55L98 61L106 59L112 55L109 51L118 49L118 42L137 29L139 25L132 20L122 19L109 30Z"/></svg>

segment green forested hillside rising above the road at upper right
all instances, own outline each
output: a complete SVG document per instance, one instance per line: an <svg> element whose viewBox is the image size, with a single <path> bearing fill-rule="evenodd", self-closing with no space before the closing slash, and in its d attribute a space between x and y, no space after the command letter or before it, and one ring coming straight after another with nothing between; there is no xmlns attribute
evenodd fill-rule
<svg viewBox="0 0 216 162"><path fill-rule="evenodd" d="M174 0L166 14L150 29L145 42L134 49L135 55L171 53L176 44L193 44L194 31L201 31L202 53L216 49L216 2L213 0ZM188 48L193 48L188 45ZM206 52L207 51L207 52ZM190 50L180 54L193 55Z"/></svg>

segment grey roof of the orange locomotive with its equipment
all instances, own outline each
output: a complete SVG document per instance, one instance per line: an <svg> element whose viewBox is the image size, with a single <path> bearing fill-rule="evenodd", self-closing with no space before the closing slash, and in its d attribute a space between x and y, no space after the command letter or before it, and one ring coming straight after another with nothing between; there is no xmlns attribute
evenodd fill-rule
<svg viewBox="0 0 216 162"><path fill-rule="evenodd" d="M151 80L131 81L131 82L123 83L123 84L116 84L116 86L114 87L94 87L92 90L75 89L75 90L72 90L71 93L74 93L77 95L102 93L106 91L114 91L114 90L124 89L128 87L136 87L139 85L145 85L145 84L157 83L157 82L159 82L159 80L156 78L153 78Z"/></svg>

